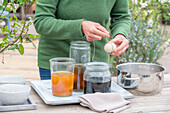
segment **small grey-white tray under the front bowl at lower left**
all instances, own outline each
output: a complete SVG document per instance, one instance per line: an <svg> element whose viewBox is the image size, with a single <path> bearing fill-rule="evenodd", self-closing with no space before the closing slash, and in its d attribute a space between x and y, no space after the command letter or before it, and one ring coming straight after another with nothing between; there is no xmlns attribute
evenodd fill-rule
<svg viewBox="0 0 170 113"><path fill-rule="evenodd" d="M27 99L27 101L23 105L2 105L0 103L0 112L1 111L35 110L35 109L37 109L37 104L35 104L31 96Z"/></svg>

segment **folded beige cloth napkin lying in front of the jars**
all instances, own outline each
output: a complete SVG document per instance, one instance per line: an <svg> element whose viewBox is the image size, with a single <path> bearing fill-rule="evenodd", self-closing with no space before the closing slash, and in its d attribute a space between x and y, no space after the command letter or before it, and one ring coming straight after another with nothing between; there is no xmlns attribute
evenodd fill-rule
<svg viewBox="0 0 170 113"><path fill-rule="evenodd" d="M96 112L118 113L130 107L130 101L118 93L93 93L79 96L80 105Z"/></svg>

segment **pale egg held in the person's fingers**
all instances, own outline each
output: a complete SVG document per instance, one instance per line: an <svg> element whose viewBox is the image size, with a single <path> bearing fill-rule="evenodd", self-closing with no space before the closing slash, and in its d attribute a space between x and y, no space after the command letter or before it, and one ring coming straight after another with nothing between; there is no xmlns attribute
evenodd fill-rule
<svg viewBox="0 0 170 113"><path fill-rule="evenodd" d="M105 44L105 46L104 46L104 50L107 53L112 53L112 52L114 52L115 49L116 49L116 44L111 43L111 42Z"/></svg>

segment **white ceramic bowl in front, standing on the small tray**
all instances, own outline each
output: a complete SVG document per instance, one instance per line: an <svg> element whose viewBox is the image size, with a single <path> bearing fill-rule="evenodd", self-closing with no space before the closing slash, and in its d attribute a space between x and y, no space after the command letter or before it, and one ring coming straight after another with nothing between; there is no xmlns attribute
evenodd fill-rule
<svg viewBox="0 0 170 113"><path fill-rule="evenodd" d="M20 84L0 85L0 102L4 105L23 104L30 95L31 87Z"/></svg>

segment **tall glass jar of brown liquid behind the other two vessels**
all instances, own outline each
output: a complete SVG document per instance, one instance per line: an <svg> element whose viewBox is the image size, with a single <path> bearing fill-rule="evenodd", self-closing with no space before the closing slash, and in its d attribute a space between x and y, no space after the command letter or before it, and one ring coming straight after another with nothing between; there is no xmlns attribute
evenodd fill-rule
<svg viewBox="0 0 170 113"><path fill-rule="evenodd" d="M90 43L86 41L72 41L70 58L75 59L74 91L83 91L84 64L90 62Z"/></svg>

